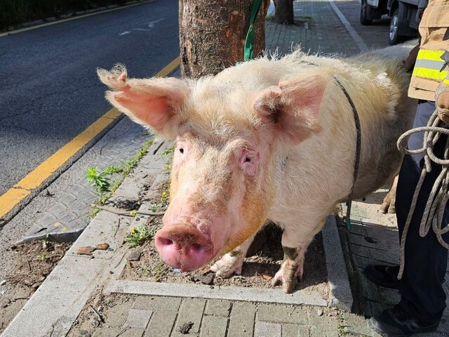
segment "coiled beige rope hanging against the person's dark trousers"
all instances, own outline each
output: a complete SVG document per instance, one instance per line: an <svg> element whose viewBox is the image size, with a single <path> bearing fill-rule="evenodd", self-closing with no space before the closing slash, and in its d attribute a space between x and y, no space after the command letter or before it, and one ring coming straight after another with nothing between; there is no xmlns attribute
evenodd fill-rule
<svg viewBox="0 0 449 337"><path fill-rule="evenodd" d="M403 133L398 139L398 149L406 154L424 154L424 166L421 171L420 179L418 180L417 186L415 188L415 193L413 194L412 203L408 211L408 216L406 220L406 225L403 229L403 234L400 243L400 268L398 272L398 279L402 278L405 264L405 253L406 253L406 237L410 223L412 220L413 213L415 213L415 207L417 204L417 199L420 194L422 184L424 183L424 178L427 173L431 172L431 162L441 165L441 173L435 180L434 186L431 189L429 197L427 199L427 204L424 209L424 214L420 223L420 236L425 237L429 232L430 228L434 230L436 238L441 246L445 249L449 249L449 243L445 242L443 239L443 234L449 232L449 225L441 228L443 213L445 210L445 205L449 200L449 137L445 143L445 150L443 154L443 159L440 159L434 154L434 145L441 137L442 134L449 136L449 129L444 128L445 124L441 119L438 118L438 107L434 114L431 115L427 126L422 126L419 128L413 128L406 133ZM424 142L423 147L418 150L408 150L407 140L413 133L424 132Z"/></svg>

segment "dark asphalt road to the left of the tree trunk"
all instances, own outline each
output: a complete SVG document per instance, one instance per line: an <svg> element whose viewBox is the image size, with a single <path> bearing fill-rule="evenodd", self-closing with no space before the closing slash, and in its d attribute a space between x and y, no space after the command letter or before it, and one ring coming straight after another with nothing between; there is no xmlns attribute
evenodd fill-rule
<svg viewBox="0 0 449 337"><path fill-rule="evenodd" d="M96 68L151 77L179 55L177 0L0 37L0 195L111 107Z"/></svg>

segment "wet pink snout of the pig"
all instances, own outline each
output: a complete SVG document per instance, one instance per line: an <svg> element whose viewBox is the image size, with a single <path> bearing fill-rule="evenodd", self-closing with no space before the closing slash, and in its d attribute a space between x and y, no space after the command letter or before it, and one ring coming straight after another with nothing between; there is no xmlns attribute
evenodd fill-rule
<svg viewBox="0 0 449 337"><path fill-rule="evenodd" d="M213 258L210 238L187 225L171 225L156 233L156 248L162 260L185 272L202 267Z"/></svg>

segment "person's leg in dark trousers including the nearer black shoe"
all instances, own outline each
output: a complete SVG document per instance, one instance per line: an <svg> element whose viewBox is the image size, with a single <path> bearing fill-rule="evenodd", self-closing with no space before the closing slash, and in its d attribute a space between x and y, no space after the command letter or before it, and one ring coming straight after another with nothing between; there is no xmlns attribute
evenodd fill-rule
<svg viewBox="0 0 449 337"><path fill-rule="evenodd" d="M430 116L433 112L434 106L431 104L426 103L418 106L417 114L420 114L421 118L425 114ZM417 119L415 119L416 121ZM445 138L445 136L441 137L434 147L437 157L443 157ZM408 143L409 148L422 147L422 140L421 143L416 140L415 138L414 144L413 142L412 144ZM422 161L417 161L416 158L410 156L404 158L396 194L396 217L400 238L406 224L421 169ZM405 270L400 282L401 301L394 308L385 310L369 321L370 326L383 336L406 336L413 332L432 331L438 326L445 308L445 293L442 282L448 260L448 251L439 244L432 230L424 238L420 237L419 234L427 197L440 172L441 166L438 167L434 164L431 173L427 173L410 223L406 238ZM448 215L448 206L446 206L443 226L448 224ZM445 239L448 240L449 235L446 234Z"/></svg>

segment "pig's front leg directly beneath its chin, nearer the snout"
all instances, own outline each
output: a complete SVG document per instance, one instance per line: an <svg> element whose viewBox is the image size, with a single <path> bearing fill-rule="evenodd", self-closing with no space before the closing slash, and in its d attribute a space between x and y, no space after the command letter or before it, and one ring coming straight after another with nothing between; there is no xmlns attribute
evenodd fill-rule
<svg viewBox="0 0 449 337"><path fill-rule="evenodd" d="M253 243L254 237L250 237L246 242L236 247L233 251L226 253L220 260L217 260L210 270L216 273L217 276L227 279L233 274L241 275L241 267L243 260L245 260L246 253Z"/></svg>

